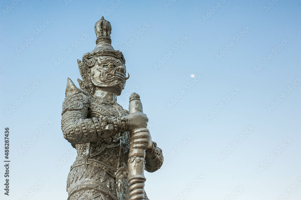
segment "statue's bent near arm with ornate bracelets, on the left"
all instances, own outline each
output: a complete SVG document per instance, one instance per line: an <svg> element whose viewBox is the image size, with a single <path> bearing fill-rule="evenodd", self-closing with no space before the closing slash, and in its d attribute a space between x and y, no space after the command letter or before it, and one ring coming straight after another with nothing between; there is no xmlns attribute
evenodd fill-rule
<svg viewBox="0 0 301 200"><path fill-rule="evenodd" d="M63 103L62 131L72 145L105 140L126 131L126 117L87 118L88 99L82 92L67 94Z"/></svg>

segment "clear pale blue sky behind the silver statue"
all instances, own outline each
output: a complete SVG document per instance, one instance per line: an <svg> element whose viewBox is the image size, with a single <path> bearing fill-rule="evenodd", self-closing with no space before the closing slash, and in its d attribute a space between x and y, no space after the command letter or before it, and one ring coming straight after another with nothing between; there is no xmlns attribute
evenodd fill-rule
<svg viewBox="0 0 301 200"><path fill-rule="evenodd" d="M1 199L67 199L76 155L61 106L102 16L130 74L117 102L128 109L129 94L141 96L163 149L164 166L146 173L150 199L300 199L301 1L2 0L0 8L0 161L5 127L11 160L9 197L0 165Z"/></svg>

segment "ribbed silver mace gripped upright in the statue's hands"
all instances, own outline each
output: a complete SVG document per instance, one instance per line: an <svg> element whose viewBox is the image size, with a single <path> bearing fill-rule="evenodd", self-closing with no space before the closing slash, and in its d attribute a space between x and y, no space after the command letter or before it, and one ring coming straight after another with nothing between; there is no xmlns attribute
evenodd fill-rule
<svg viewBox="0 0 301 200"><path fill-rule="evenodd" d="M129 113L143 112L140 96L135 92L131 94L129 101ZM147 146L142 142L141 135L145 135L149 130L145 125L141 125L130 131L129 139L129 199L130 200L143 200L144 199L144 177L145 168L145 150Z"/></svg>

